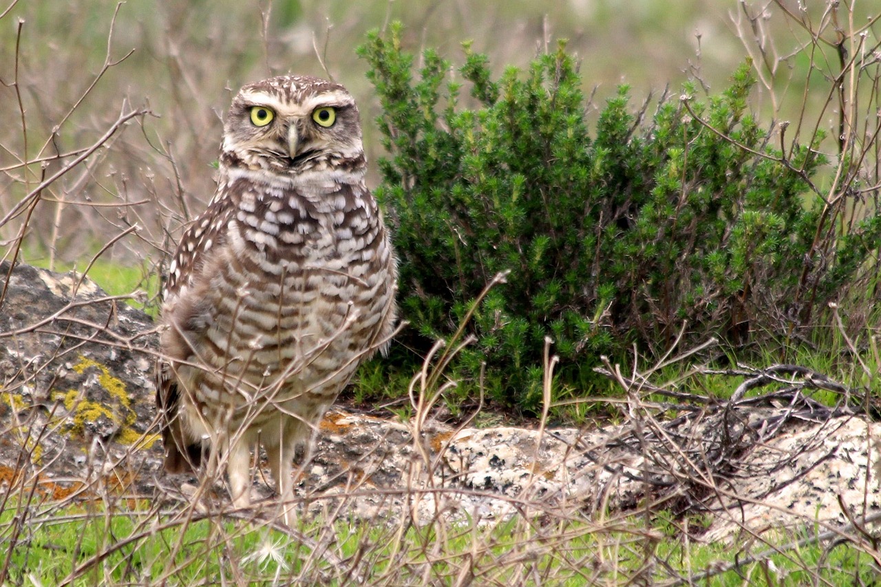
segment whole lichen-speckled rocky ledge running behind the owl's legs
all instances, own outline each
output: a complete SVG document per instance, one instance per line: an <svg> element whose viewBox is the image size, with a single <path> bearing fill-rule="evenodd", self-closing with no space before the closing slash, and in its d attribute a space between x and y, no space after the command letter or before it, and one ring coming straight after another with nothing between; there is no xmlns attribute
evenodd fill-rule
<svg viewBox="0 0 881 587"><path fill-rule="evenodd" d="M77 274L0 264L0 482L46 499L186 499L161 471L150 316ZM611 375L611 373L609 374ZM874 520L877 424L807 369L741 369L725 401L617 375L628 417L608 427L455 427L332 410L300 466L308 509L416 523L652 507L700 515L703 539ZM769 388L759 395L748 390ZM834 408L812 390L840 394ZM652 397L670 398L650 403ZM749 395L749 397L747 397ZM675 401L674 401L675 400ZM254 492L270 496L265 479Z"/></svg>

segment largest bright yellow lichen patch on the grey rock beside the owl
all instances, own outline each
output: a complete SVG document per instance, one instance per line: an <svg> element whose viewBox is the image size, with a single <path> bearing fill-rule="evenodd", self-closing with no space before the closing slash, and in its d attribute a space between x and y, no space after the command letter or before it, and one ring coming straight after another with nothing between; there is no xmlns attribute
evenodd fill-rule
<svg viewBox="0 0 881 587"><path fill-rule="evenodd" d="M131 398L126 390L125 383L112 375L105 365L88 357L80 356L79 362L73 366L73 370L79 375L83 375L88 368L98 369L99 385L118 404L107 406L85 399L79 390L54 392L52 398L61 400L67 411L72 414L73 421L68 422L69 431L81 435L85 432L86 423L94 423L100 420L101 417L104 417L119 426L119 432L115 438L117 442L133 444L144 439L144 444L139 448L150 448L152 443L156 442L156 435L142 435L132 428L137 419L137 413L131 409Z"/></svg>

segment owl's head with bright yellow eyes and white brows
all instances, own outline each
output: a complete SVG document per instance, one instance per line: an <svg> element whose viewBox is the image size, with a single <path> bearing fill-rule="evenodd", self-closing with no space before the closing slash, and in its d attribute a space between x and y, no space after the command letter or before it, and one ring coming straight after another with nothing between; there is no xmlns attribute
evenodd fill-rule
<svg viewBox="0 0 881 587"><path fill-rule="evenodd" d="M245 85L226 115L221 163L297 175L366 167L355 100L342 85L278 76Z"/></svg>

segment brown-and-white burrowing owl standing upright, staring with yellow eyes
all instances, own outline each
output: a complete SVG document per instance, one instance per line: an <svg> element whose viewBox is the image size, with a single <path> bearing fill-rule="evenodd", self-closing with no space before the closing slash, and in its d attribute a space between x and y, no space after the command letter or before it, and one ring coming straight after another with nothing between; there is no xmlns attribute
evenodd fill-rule
<svg viewBox="0 0 881 587"><path fill-rule="evenodd" d="M358 108L305 76L241 88L217 193L168 268L157 403L166 468L226 461L248 504L262 443L283 498L292 458L361 360L387 343L396 261L366 189Z"/></svg>

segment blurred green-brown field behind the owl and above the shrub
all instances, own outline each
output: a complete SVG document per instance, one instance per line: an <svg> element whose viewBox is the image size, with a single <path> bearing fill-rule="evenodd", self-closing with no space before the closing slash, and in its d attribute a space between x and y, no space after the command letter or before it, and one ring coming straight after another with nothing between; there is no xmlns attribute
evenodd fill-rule
<svg viewBox="0 0 881 587"><path fill-rule="evenodd" d="M567 50L581 60L585 93L593 93L598 107L621 83L632 86L634 108L665 87L677 95L688 78L699 79L706 92L719 92L751 55L764 71L754 107L770 123L801 111L811 67L796 50L806 34L792 19L781 18L780 6L766 2L19 0L7 5L0 19L0 217L71 160L58 155L93 145L125 108L149 110L41 194L21 255L56 268L82 268L108 240L137 225L136 233L107 247L102 259L155 272L181 226L211 197L221 116L233 93L258 78L296 72L349 87L361 108L368 181L376 185L375 162L383 154L374 123L379 106L355 48L368 30L393 20L403 22L406 48L437 48L462 63L461 42L473 41L496 72L522 67L567 39ZM825 22L820 28L834 36L837 23L828 22L827 3L808 3L803 12L799 5L783 3ZM868 15L870 7L856 10L855 19L861 19L859 11ZM815 63L822 68L835 58L830 48ZM815 79L822 81L821 75ZM450 78L460 78L455 69ZM822 94L818 103L828 98L825 89ZM833 128L834 113L823 116ZM112 205L90 205L94 202ZM14 243L23 221L19 215L0 223L0 246Z"/></svg>

